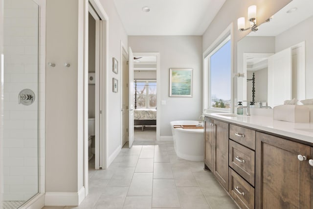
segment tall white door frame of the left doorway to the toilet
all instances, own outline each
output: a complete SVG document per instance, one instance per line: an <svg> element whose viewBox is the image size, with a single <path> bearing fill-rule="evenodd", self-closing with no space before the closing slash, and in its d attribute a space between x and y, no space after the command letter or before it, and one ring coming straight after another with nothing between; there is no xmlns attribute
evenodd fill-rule
<svg viewBox="0 0 313 209"><path fill-rule="evenodd" d="M89 7L91 5L92 9L96 15L101 19L99 21L99 167L98 168L107 168L107 73L109 69L108 62L108 43L109 43L109 17L105 12L102 4L99 0L86 0L85 8L85 28L84 28L84 181L85 186L85 196L89 193L88 185L88 16L89 16ZM97 20L96 20L97 22ZM96 23L97 25L97 23ZM97 29L96 29L97 32ZM97 97L97 96L96 96ZM96 114L95 114L96 115Z"/></svg>

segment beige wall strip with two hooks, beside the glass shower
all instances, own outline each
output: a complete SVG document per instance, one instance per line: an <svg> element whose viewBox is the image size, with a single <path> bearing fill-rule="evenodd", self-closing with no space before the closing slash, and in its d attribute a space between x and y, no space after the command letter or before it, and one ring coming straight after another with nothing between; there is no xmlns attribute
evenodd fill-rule
<svg viewBox="0 0 313 209"><path fill-rule="evenodd" d="M46 1L46 63L56 65L46 65L46 192L77 192L83 184L78 182L83 172L78 170L78 94L83 93L78 92L78 12L77 0Z"/></svg>

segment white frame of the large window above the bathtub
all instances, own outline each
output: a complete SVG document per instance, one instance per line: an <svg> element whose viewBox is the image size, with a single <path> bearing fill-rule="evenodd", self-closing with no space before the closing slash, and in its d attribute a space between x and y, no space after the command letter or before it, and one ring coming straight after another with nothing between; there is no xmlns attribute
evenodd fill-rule
<svg viewBox="0 0 313 209"><path fill-rule="evenodd" d="M224 44L230 40L230 108L211 108L211 92L210 92L210 62L209 58L210 55L214 54L217 50L220 49L221 46L224 46ZM202 108L203 111L206 112L234 112L234 81L233 81L233 75L234 75L234 67L233 67L233 57L234 57L234 39L233 39L233 23L229 24L228 27L221 33L221 35L209 46L204 52L203 52L203 103Z"/></svg>

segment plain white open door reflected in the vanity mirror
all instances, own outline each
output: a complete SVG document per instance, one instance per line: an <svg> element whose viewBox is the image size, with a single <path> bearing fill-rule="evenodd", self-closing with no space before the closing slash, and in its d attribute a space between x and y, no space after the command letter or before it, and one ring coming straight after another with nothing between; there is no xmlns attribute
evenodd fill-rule
<svg viewBox="0 0 313 209"><path fill-rule="evenodd" d="M284 104L292 93L291 48L282 50L268 58L268 106Z"/></svg>

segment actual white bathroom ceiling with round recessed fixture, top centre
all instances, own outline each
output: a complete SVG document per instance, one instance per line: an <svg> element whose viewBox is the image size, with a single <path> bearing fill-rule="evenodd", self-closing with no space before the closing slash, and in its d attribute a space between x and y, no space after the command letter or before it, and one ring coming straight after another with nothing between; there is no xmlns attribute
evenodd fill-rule
<svg viewBox="0 0 313 209"><path fill-rule="evenodd" d="M203 35L225 0L114 0L127 35ZM143 12L148 6L150 12Z"/></svg>

